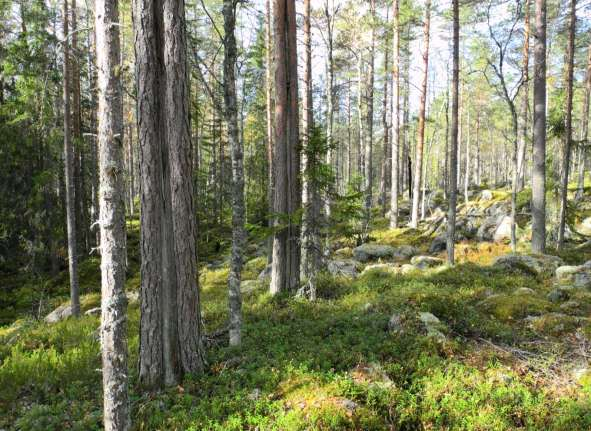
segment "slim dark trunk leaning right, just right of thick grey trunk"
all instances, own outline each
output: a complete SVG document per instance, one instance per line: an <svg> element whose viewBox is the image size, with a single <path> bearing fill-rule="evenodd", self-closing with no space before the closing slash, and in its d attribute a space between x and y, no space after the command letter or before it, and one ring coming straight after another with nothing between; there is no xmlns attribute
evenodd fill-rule
<svg viewBox="0 0 591 431"><path fill-rule="evenodd" d="M568 30L568 46L566 61L566 114L564 131L564 150L562 154L562 181L560 190L560 220L558 225L558 249L564 245L566 229L566 206L568 195L568 173L570 169L570 153L573 139L573 70L575 59L575 28L576 28L576 0L570 0L570 22Z"/></svg>

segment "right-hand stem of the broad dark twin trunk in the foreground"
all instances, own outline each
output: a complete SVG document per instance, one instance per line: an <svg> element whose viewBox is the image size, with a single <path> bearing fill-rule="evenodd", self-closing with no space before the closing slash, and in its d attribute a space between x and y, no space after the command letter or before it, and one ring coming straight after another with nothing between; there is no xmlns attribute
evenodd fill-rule
<svg viewBox="0 0 591 431"><path fill-rule="evenodd" d="M189 76L183 0L164 1L166 126L169 143L171 209L176 262L178 350L182 373L203 368L197 276L197 225L193 202ZM173 304L174 309L174 304Z"/></svg>

